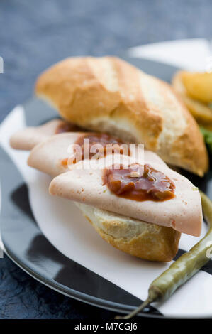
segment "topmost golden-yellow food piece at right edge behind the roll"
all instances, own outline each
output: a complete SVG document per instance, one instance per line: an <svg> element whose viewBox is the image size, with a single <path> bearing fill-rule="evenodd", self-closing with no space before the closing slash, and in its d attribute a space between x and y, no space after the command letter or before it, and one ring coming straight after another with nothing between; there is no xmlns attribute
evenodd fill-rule
<svg viewBox="0 0 212 334"><path fill-rule="evenodd" d="M203 103L212 101L212 72L182 72L182 82L190 97Z"/></svg>

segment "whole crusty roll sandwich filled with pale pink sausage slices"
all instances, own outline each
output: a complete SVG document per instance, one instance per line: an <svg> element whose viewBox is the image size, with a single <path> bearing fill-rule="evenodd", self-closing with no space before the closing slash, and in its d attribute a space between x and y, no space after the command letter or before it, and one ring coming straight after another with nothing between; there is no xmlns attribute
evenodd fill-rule
<svg viewBox="0 0 212 334"><path fill-rule="evenodd" d="M165 162L203 176L208 156L196 122L168 84L118 58L68 58L40 75L35 93L65 120L23 129L11 137L11 146L32 149L28 165L54 177L52 195L73 200L103 239L142 259L170 261L182 232L199 236L199 192ZM91 156L69 163L74 145L88 137L97 144L144 144L142 161L131 153L113 152L111 158L134 158L130 168L150 166L173 185L173 198L139 201L113 193L103 181L112 166L105 154L99 163L106 167L95 173L81 168Z"/></svg>

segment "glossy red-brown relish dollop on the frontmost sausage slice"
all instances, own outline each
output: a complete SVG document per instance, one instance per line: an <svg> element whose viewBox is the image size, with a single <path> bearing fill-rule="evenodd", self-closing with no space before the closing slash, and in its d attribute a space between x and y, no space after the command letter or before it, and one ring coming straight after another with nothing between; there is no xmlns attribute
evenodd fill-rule
<svg viewBox="0 0 212 334"><path fill-rule="evenodd" d="M174 183L150 165L133 163L128 168L106 168L103 176L112 193L130 200L153 200L155 202L174 198Z"/></svg>

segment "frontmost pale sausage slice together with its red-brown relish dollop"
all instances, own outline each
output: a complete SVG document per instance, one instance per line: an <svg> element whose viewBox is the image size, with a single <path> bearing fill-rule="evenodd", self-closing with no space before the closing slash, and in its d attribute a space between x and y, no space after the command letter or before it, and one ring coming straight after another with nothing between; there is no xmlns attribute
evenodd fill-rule
<svg viewBox="0 0 212 334"><path fill-rule="evenodd" d="M83 161L73 164L68 172L52 180L50 194L135 220L173 227L189 235L200 235L201 198L188 179L158 161L152 152L145 151L144 160L122 156L120 163L120 159L116 154L101 158L98 168L89 163L84 168ZM140 168L134 170L134 163ZM113 170L113 165L118 165L118 169ZM140 176L140 169L145 177Z"/></svg>

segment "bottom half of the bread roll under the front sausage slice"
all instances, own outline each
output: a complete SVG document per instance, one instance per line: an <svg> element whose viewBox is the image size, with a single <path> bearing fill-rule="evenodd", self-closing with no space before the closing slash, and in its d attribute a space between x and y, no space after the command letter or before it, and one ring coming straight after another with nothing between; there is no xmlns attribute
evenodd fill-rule
<svg viewBox="0 0 212 334"><path fill-rule="evenodd" d="M150 261L171 261L177 254L180 232L76 203L91 225L113 247Z"/></svg>

